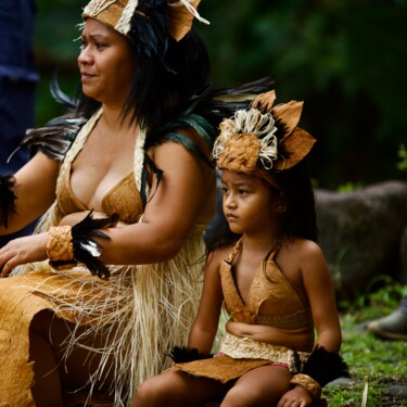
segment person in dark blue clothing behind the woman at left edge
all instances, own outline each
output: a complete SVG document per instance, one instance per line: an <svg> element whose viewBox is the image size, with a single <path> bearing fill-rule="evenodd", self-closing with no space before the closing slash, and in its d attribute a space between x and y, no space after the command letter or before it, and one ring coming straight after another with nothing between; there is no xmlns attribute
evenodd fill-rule
<svg viewBox="0 0 407 407"><path fill-rule="evenodd" d="M14 174L28 161L28 151L18 147L25 131L35 123L35 90L39 75L34 62L35 0L2 0L0 3L0 174ZM0 237L0 247L23 230Z"/></svg>

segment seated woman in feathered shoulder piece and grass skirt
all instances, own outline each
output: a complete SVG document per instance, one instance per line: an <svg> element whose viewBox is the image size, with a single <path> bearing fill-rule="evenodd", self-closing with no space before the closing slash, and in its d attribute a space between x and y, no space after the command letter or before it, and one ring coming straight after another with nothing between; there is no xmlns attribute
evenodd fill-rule
<svg viewBox="0 0 407 407"><path fill-rule="evenodd" d="M1 177L0 233L46 214L36 234L0 250L2 277L21 275L0 283L0 404L101 395L124 406L186 340L215 207L207 157L227 110L207 90L193 15L186 0L84 10L84 96L31 131L39 151Z"/></svg>

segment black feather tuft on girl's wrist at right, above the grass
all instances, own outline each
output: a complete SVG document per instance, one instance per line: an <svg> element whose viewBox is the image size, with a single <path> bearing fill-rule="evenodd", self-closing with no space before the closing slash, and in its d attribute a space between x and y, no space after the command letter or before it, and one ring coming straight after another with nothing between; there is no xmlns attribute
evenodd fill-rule
<svg viewBox="0 0 407 407"><path fill-rule="evenodd" d="M305 363L302 373L310 376L321 387L338 378L349 378L347 364L336 352L316 346Z"/></svg>

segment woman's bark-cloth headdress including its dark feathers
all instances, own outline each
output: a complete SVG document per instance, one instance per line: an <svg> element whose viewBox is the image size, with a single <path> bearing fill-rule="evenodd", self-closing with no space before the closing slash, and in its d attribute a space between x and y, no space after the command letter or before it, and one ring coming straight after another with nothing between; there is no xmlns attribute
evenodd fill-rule
<svg viewBox="0 0 407 407"><path fill-rule="evenodd" d="M157 55L164 66L168 37L181 40L193 18L209 24L196 11L201 0L90 0L82 17L96 18L138 44L147 55Z"/></svg>

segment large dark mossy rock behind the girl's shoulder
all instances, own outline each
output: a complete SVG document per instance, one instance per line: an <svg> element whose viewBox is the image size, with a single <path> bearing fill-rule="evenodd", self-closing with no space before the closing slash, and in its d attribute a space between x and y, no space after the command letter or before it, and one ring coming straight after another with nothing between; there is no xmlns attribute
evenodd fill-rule
<svg viewBox="0 0 407 407"><path fill-rule="evenodd" d="M346 193L316 190L316 207L319 243L339 298L366 292L379 275L407 281L407 182Z"/></svg>

